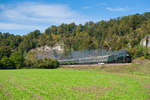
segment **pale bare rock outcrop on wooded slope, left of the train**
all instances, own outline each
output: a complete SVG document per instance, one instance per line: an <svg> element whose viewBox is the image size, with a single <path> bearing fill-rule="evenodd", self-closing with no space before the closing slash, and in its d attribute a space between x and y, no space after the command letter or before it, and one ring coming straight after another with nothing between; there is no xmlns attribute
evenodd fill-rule
<svg viewBox="0 0 150 100"><path fill-rule="evenodd" d="M45 45L36 49L32 49L30 52L32 52L37 59L60 59L61 55L64 53L64 45L56 44L53 47Z"/></svg>

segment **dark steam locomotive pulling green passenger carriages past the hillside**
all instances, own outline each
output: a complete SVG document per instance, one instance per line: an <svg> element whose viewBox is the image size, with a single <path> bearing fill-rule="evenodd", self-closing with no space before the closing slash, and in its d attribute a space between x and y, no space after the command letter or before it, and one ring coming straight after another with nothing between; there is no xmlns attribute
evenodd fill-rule
<svg viewBox="0 0 150 100"><path fill-rule="evenodd" d="M131 63L131 56L126 50L106 53L104 55L84 56L58 60L61 65L99 64L99 63Z"/></svg>

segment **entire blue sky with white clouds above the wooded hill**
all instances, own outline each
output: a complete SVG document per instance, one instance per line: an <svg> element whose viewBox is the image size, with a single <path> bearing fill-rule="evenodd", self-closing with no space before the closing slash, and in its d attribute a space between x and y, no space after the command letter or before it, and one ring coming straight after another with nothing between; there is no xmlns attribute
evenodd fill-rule
<svg viewBox="0 0 150 100"><path fill-rule="evenodd" d="M0 0L0 32L23 35L144 12L150 12L150 0Z"/></svg>

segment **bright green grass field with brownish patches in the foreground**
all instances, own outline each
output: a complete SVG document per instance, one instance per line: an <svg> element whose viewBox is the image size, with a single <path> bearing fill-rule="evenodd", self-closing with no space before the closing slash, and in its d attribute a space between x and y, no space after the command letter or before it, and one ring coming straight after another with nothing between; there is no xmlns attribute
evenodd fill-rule
<svg viewBox="0 0 150 100"><path fill-rule="evenodd" d="M150 100L149 66L0 70L0 100Z"/></svg>

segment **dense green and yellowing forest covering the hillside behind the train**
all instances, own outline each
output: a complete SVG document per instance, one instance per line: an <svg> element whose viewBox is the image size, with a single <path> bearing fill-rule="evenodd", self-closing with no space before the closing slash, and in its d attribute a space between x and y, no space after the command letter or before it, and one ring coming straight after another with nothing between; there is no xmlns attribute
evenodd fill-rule
<svg viewBox="0 0 150 100"><path fill-rule="evenodd" d="M140 46L146 35L150 35L150 12L84 25L52 25L43 33L35 30L23 36L0 32L0 64L20 56L21 65L29 50L58 42L64 43L65 52L107 47L109 50L127 49L133 58L147 57L147 49Z"/></svg>

